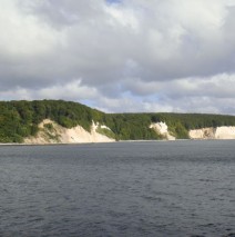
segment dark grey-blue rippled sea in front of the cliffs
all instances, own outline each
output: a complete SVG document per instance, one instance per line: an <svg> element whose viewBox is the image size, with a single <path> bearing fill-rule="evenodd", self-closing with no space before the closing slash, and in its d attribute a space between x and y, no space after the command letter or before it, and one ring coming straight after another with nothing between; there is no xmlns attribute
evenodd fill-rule
<svg viewBox="0 0 235 237"><path fill-rule="evenodd" d="M0 236L235 236L235 141L0 146Z"/></svg>

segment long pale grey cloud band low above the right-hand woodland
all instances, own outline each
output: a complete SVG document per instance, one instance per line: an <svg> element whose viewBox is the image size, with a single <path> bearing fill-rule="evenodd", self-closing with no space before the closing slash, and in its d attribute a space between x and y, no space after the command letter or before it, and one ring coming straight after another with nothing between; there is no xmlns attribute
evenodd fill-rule
<svg viewBox="0 0 235 237"><path fill-rule="evenodd" d="M143 81L129 78L123 82L125 90L135 96L166 96L178 99L185 97L234 98L235 75L216 75L206 78L181 78L170 81Z"/></svg>

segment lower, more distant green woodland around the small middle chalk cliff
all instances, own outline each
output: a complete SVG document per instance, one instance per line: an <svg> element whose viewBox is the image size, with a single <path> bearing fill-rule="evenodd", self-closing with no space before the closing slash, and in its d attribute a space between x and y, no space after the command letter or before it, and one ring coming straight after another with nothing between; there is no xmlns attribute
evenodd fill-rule
<svg viewBox="0 0 235 237"><path fill-rule="evenodd" d="M187 139L188 130L206 127L235 126L234 116L203 113L110 113L105 115L104 124L116 135L117 139L162 139L150 129L152 122L165 122L168 131L176 139Z"/></svg>

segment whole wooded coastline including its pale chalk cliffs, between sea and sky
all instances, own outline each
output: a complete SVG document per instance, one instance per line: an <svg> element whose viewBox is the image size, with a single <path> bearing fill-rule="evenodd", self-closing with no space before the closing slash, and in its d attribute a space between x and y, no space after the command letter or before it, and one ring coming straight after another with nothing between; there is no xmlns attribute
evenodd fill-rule
<svg viewBox="0 0 235 237"><path fill-rule="evenodd" d="M203 129L188 131L202 125ZM63 100L0 101L0 144L235 139L232 127L221 127L224 125L235 127L235 116L105 113Z"/></svg>

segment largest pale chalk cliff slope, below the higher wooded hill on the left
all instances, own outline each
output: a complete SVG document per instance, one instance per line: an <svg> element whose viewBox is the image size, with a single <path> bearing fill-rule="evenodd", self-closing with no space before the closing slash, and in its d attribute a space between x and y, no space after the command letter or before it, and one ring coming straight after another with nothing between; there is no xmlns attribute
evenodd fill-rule
<svg viewBox="0 0 235 237"><path fill-rule="evenodd" d="M81 126L74 128L64 128L57 122L44 119L39 125L39 132L34 137L28 137L24 139L24 144L82 144L82 142L112 142L115 141L96 130L102 126L91 126L91 132L84 130ZM105 128L109 129L109 128Z"/></svg>

